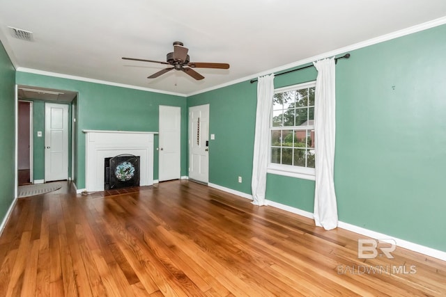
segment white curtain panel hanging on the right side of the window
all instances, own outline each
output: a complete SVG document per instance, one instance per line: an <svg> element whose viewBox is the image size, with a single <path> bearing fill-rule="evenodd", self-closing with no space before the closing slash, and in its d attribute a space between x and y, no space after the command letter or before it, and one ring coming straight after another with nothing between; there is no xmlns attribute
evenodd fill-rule
<svg viewBox="0 0 446 297"><path fill-rule="evenodd" d="M335 140L335 66L334 58L314 62L318 70L316 104L314 106L314 138L316 153L316 188L314 222L325 230L337 227L337 202L334 193Z"/></svg>

